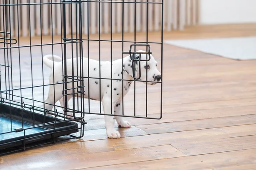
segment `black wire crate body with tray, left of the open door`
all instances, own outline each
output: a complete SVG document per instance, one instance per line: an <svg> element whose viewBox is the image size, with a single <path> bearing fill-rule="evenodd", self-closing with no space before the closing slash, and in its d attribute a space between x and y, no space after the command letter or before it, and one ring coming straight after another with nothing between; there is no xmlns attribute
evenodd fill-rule
<svg viewBox="0 0 256 170"><path fill-rule="evenodd" d="M60 95L64 98L67 91L72 91L73 96L81 96L84 88L83 78L73 77L73 72L68 75L65 72L67 65L61 62L70 52L72 58L82 59L81 14L70 13L70 19L65 20L64 15L61 16L65 6L70 10L75 6L77 13L81 13L79 1L2 0L0 3L0 155L83 136L82 102L70 108L55 105L58 102L55 96L59 95L55 94L56 89L61 89ZM53 14L56 8L60 17ZM49 11L47 15L44 12L46 9ZM28 17L20 16L20 10L25 16L28 13ZM40 26L35 26L36 22ZM45 28L48 23L51 27ZM71 30L75 30L76 34L67 37L63 27L61 35L54 37L54 23L60 26L70 23ZM37 37L33 37L35 31ZM46 32L51 35L44 36ZM43 57L55 53L61 56L59 61L44 64ZM79 64L76 62L74 65ZM55 71L54 67L61 69ZM82 71L82 68L77 70ZM57 79L59 74L61 77ZM67 88L67 84L71 87ZM52 103L48 93L54 96ZM76 116L70 118L64 115L66 113L76 113Z"/></svg>

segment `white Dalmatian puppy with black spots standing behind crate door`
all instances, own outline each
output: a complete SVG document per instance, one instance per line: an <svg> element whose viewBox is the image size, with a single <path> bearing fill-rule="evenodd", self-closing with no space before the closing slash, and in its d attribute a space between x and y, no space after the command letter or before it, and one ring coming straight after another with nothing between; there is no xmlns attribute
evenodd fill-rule
<svg viewBox="0 0 256 170"><path fill-rule="evenodd" d="M137 52L145 52L145 51L137 51ZM141 59L148 59L147 54L141 54ZM150 60L148 62L146 61L140 61L140 64L138 61L132 61L130 56L124 57L123 61L122 59L117 59L112 62L112 103L111 103L111 80L110 79L104 79L104 78L111 78L111 62L109 61L101 61L99 64L99 61L94 59L88 59L83 58L83 75L84 77L88 77L88 66L89 66L89 77L99 77L99 67L101 67L101 87L99 87L99 79L89 79L89 89L90 89L90 99L98 100L102 102L104 113L111 114L111 105L112 105L112 114L114 115L122 115L122 88L123 90L123 96L125 96L129 88L131 86L131 83L134 80L134 75L139 78L139 65L140 65L140 71L141 76L140 80L148 80L149 85L155 85L157 82L161 80L161 74L157 70L157 61L154 59L154 57L151 55ZM53 59L53 61L52 61ZM76 60L78 59L78 63L80 62L80 58L73 58L73 69L74 69L74 76L80 76L76 75L77 73L80 73L80 65L76 64ZM139 54L136 54L136 59L139 59ZM56 60L60 60L60 62L56 62ZM54 65L54 71L51 70L49 82L52 83L58 83L63 82L63 75L62 75L62 67L64 63L61 61L61 57L58 57L56 55L46 55L43 57L43 62L45 65L47 65L49 68L53 68ZM72 59L67 59L67 75L72 75ZM78 71L77 71L78 70ZM134 72L133 72L134 71ZM134 74L135 73L135 74ZM146 77L147 75L147 77ZM126 79L123 81L122 85L122 76L123 79ZM54 77L54 82L53 82ZM71 81L67 79L67 81ZM144 82L145 83L145 82ZM67 83L67 89L72 89L73 83ZM75 83L75 86L78 86L79 84ZM60 101L61 107L64 107L64 97L62 95L63 91L63 84L56 84L54 85L55 88L53 88L53 85L50 85L49 87L49 93L48 97L45 100L45 109L48 111L52 110L53 105L55 105L55 102ZM101 94L99 94L99 88ZM72 90L67 90L67 100L70 100L72 98ZM78 93L79 94L79 93ZM80 95L80 94L79 94ZM101 96L101 98L99 98ZM77 96L76 97L84 97L88 98L88 79L84 78L84 96ZM67 106L68 107L68 106ZM120 133L115 130L114 123L118 123L119 127L131 127L130 123L125 121L122 116L105 116L105 128L108 138L120 138Z"/></svg>

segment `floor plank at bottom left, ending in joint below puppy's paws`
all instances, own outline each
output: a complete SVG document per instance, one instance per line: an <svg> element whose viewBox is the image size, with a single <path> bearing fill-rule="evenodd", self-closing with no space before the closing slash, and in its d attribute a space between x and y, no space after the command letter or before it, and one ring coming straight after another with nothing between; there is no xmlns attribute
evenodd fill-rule
<svg viewBox="0 0 256 170"><path fill-rule="evenodd" d="M40 155L31 153L24 159L19 159L16 156L3 158L4 164L1 168L9 170L17 170L21 167L26 170L45 170L48 168L71 170L111 164L123 164L134 161L148 161L186 156L171 145L142 147L100 153L86 153L86 149L82 150L78 147L73 148L73 150L67 150L66 154L60 155L60 153L61 150L55 150L54 153L44 152ZM43 161L44 164L41 164ZM28 162L33 163L29 164ZM84 162L84 164L81 164L81 162ZM41 166L38 167L37 164L41 164Z"/></svg>

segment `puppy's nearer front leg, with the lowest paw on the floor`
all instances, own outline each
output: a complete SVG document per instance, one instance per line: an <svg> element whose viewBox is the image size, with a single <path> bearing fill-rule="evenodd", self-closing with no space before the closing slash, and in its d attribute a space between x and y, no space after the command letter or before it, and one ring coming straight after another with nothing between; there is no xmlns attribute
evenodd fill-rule
<svg viewBox="0 0 256 170"><path fill-rule="evenodd" d="M111 98L109 96L104 96L102 99L103 110L105 114L111 114ZM112 114L114 113L114 108L116 101L112 102ZM121 138L121 135L118 131L115 130L115 119L113 116L105 115L105 128L107 136L109 138Z"/></svg>

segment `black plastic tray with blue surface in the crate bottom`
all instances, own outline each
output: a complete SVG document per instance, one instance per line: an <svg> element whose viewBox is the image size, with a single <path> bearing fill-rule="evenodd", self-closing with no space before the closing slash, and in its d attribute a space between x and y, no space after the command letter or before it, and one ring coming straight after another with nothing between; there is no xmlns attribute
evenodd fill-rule
<svg viewBox="0 0 256 170"><path fill-rule="evenodd" d="M61 122L54 123L52 125L45 125L43 127L33 127L33 125L44 125L44 123L54 122L55 120ZM76 122L63 122L63 120L55 119L52 116L46 116L44 114L0 103L0 154L5 152L5 150L7 151L24 146L24 130L20 132L6 132L20 128L24 129L26 127L33 127L25 131L26 145L41 143L42 141L52 139L53 136L56 138L79 131L78 124Z"/></svg>

